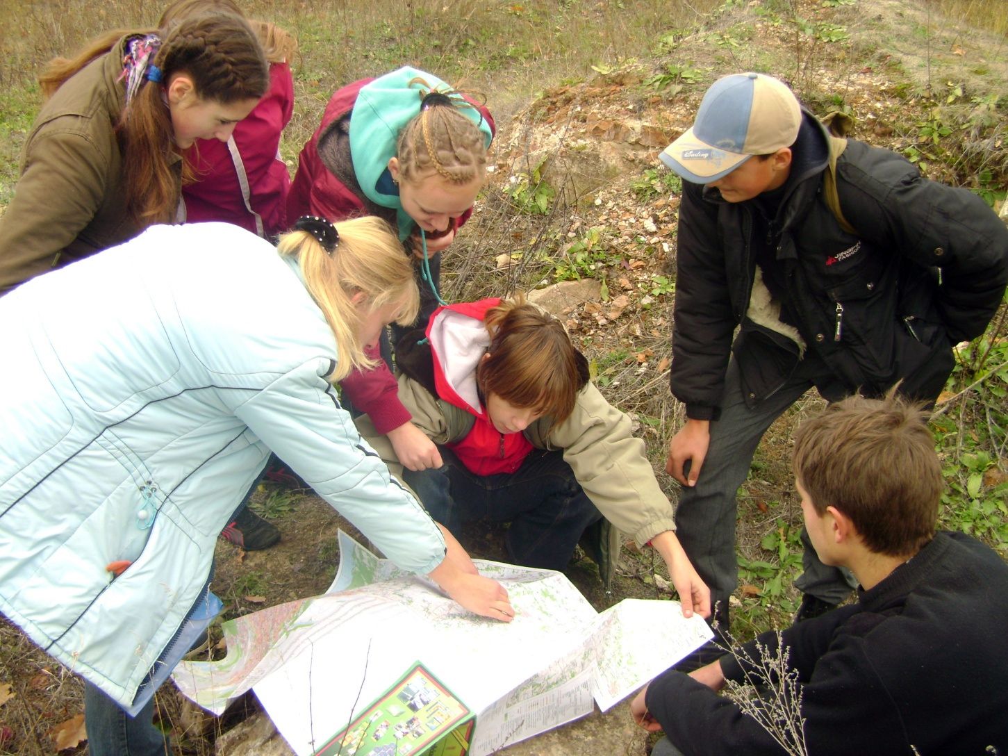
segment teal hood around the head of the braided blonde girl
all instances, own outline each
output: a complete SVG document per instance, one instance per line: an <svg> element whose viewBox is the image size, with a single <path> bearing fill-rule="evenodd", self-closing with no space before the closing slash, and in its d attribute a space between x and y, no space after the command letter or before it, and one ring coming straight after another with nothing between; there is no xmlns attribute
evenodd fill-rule
<svg viewBox="0 0 1008 756"><path fill-rule="evenodd" d="M420 81L413 81L414 79ZM399 187L392 182L388 161L395 156L399 132L420 112L420 100L431 90L450 93L449 97L463 101L458 93L432 74L404 66L361 88L350 118L350 156L361 191L371 202L396 211L399 239L409 236L416 224L402 210ZM490 146L493 132L477 108L460 108L467 118L479 126Z"/></svg>

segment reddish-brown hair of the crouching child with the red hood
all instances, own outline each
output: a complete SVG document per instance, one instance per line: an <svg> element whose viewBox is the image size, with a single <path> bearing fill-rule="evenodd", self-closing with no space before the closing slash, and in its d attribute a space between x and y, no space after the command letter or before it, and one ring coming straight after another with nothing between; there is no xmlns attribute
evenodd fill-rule
<svg viewBox="0 0 1008 756"><path fill-rule="evenodd" d="M588 383L588 363L560 322L519 294L488 310L485 324L489 357L476 372L484 396L496 394L516 407L535 407L553 424L565 420Z"/></svg>

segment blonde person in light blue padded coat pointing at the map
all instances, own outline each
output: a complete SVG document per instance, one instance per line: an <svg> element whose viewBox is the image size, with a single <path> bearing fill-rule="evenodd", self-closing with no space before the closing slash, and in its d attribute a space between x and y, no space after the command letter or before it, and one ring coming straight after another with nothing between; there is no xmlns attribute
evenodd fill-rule
<svg viewBox="0 0 1008 756"><path fill-rule="evenodd" d="M154 226L0 298L0 612L86 679L93 756L165 752L153 692L210 621L217 535L271 452L401 568L511 619L333 388L417 306L375 218L301 219L279 250Z"/></svg>

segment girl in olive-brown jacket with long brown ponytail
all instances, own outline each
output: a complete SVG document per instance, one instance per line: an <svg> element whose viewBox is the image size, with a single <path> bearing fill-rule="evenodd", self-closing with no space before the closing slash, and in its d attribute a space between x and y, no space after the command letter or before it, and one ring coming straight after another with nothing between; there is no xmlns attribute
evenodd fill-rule
<svg viewBox="0 0 1008 756"><path fill-rule="evenodd" d="M227 140L269 86L241 18L201 15L156 33L111 32L39 80L48 99L0 217L0 295L174 219L197 139Z"/></svg>

